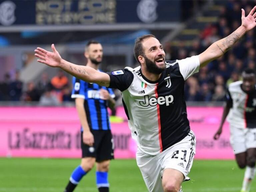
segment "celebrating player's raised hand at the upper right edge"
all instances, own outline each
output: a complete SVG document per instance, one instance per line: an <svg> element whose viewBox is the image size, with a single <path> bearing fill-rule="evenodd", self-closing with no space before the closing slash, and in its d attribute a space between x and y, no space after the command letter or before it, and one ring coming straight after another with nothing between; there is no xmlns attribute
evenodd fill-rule
<svg viewBox="0 0 256 192"><path fill-rule="evenodd" d="M246 31L251 30L256 26L256 6L250 11L250 13L245 17L245 11L242 9L242 26L245 27Z"/></svg>

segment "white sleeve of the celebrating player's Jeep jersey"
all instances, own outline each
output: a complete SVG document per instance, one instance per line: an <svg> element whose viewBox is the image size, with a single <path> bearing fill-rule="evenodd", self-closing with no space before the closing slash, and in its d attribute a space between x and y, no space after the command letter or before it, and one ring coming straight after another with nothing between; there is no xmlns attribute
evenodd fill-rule
<svg viewBox="0 0 256 192"><path fill-rule="evenodd" d="M187 80L191 75L197 73L200 67L199 56L192 56L186 59L178 60L180 67L180 73L183 76L184 80Z"/></svg>

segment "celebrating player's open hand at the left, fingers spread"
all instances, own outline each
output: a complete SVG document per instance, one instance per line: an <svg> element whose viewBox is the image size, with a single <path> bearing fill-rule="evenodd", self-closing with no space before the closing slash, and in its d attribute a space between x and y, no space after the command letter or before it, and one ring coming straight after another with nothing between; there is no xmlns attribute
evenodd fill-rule
<svg viewBox="0 0 256 192"><path fill-rule="evenodd" d="M35 49L35 56L39 58L37 59L37 61L49 65L51 67L59 67L61 56L59 52L55 49L54 44L52 44L52 51L53 52L46 51L41 47L37 47Z"/></svg>

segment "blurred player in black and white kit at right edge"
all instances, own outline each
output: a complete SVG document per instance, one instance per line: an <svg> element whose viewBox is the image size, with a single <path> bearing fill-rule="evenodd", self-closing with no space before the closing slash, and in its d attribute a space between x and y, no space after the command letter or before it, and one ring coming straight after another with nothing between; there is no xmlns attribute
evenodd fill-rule
<svg viewBox="0 0 256 192"><path fill-rule="evenodd" d="M219 139L223 124L229 114L230 143L236 162L241 169L246 167L241 192L249 192L255 175L256 162L255 71L245 69L242 72L242 78L242 81L231 83L228 87L227 103L214 139Z"/></svg>

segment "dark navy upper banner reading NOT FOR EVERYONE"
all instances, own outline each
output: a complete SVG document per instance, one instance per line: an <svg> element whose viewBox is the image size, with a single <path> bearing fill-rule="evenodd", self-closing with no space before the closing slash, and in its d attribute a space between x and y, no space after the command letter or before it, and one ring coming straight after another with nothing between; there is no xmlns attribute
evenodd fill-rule
<svg viewBox="0 0 256 192"><path fill-rule="evenodd" d="M158 0L0 0L0 26L178 22L180 6Z"/></svg>

